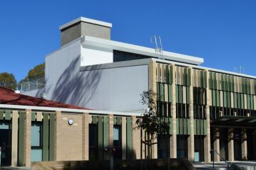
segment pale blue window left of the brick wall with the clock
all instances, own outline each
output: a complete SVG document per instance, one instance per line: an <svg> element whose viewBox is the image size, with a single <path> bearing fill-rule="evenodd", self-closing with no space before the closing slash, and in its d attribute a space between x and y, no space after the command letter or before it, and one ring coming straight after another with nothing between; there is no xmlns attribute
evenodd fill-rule
<svg viewBox="0 0 256 170"><path fill-rule="evenodd" d="M41 122L32 122L31 124L31 161L43 160L43 142L42 142L42 124Z"/></svg>

